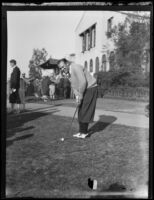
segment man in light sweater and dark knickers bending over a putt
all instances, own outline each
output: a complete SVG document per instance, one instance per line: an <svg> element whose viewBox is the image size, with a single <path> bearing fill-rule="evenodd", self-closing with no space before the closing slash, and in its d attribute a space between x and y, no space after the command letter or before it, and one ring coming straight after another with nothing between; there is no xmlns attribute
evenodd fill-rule
<svg viewBox="0 0 154 200"><path fill-rule="evenodd" d="M63 58L58 61L60 70L71 75L71 87L78 104L79 133L74 134L77 138L86 138L88 135L88 125L93 122L96 100L97 83L96 79L83 68Z"/></svg>

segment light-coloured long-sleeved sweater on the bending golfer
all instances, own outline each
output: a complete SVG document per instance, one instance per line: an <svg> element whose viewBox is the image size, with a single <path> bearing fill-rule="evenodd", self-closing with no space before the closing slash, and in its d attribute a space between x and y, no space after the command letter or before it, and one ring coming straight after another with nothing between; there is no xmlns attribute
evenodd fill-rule
<svg viewBox="0 0 154 200"><path fill-rule="evenodd" d="M96 79L82 65L71 63L71 87L75 96L83 98L86 89L97 86Z"/></svg>

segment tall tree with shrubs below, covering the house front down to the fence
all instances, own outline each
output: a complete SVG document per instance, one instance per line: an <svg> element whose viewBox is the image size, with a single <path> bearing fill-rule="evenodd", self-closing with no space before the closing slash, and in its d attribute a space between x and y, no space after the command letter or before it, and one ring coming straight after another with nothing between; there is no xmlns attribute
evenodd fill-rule
<svg viewBox="0 0 154 200"><path fill-rule="evenodd" d="M140 17L138 12L132 16L130 14L123 23L114 26L110 33L110 40L115 44L115 57L109 57L110 85L115 87L149 86L149 75L143 74L141 67L143 62L148 62L144 53L146 46L150 46L149 17ZM114 71L114 66L118 70Z"/></svg>

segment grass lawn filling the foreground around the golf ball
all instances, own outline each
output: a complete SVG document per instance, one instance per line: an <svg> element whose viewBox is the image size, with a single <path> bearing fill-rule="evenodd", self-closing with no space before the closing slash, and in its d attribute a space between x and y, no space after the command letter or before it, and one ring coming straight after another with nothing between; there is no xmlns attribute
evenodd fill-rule
<svg viewBox="0 0 154 200"><path fill-rule="evenodd" d="M72 137L77 122L68 133L70 121L41 112L7 118L10 197L90 198L147 184L148 129L99 121L91 125L91 137L82 140ZM96 192L88 187L89 177L98 181Z"/></svg>

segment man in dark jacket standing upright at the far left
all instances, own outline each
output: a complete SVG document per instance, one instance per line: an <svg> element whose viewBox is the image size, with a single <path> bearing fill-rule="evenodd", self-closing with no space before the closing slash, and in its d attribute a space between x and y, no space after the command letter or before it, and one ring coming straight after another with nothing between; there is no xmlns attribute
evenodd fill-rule
<svg viewBox="0 0 154 200"><path fill-rule="evenodd" d="M9 101L11 103L11 113L14 113L15 104L17 104L17 113L20 113L20 96L19 96L19 88L20 88L20 69L16 66L16 60L10 60L10 65L13 68L10 78L10 97Z"/></svg>

